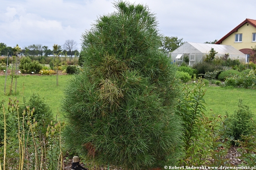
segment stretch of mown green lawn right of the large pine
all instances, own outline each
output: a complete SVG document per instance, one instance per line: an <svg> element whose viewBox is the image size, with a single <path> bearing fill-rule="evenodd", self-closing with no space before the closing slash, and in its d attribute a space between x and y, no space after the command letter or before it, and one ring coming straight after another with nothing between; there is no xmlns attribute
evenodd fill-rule
<svg viewBox="0 0 256 170"><path fill-rule="evenodd" d="M206 101L206 115L229 115L238 110L239 99L247 104L251 112L256 114L256 89L244 89L233 87L207 86L204 96ZM212 111L210 110L212 109Z"/></svg>

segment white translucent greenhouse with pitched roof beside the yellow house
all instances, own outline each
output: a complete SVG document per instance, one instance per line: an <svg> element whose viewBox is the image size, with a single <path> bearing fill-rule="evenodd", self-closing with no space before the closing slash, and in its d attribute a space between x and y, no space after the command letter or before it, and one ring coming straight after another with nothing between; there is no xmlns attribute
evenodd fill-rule
<svg viewBox="0 0 256 170"><path fill-rule="evenodd" d="M171 58L174 63L180 65L184 61L184 57L187 56L189 58L189 65L193 66L196 63L203 62L206 55L209 54L209 51L212 48L218 52L215 55L215 58L229 54L229 58L232 60L239 59L242 63L247 62L246 55L231 45L205 44L196 42L185 42L183 45L171 52Z"/></svg>

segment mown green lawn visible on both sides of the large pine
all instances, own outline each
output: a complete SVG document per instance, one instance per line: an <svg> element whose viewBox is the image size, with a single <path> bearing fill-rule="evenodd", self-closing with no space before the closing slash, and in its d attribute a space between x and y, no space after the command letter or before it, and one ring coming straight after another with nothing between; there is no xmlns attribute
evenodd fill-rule
<svg viewBox="0 0 256 170"><path fill-rule="evenodd" d="M23 97L29 100L33 93L44 97L45 101L52 108L54 115L60 109L63 89L71 75L59 75L59 86L56 85L56 75L25 75L17 78L17 99L23 103ZM15 79L13 80L13 91L15 91ZM6 101L10 96L4 95L5 76L0 76L0 100ZM11 84L10 76L7 77L6 92L9 93ZM226 112L230 115L238 109L239 99L250 106L252 113L256 114L256 89L231 88L219 86L207 86L206 115L221 114ZM15 95L11 96L14 98Z"/></svg>

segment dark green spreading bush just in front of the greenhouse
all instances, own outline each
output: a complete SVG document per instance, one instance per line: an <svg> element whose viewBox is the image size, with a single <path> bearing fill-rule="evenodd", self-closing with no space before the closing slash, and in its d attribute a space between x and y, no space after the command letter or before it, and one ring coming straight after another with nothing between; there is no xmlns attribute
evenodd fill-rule
<svg viewBox="0 0 256 170"><path fill-rule="evenodd" d="M213 63L202 62L202 63L195 64L192 68L197 70L197 75L199 74L204 75L206 72L213 72L214 70L218 70L218 69L222 70L223 66L215 65Z"/></svg>

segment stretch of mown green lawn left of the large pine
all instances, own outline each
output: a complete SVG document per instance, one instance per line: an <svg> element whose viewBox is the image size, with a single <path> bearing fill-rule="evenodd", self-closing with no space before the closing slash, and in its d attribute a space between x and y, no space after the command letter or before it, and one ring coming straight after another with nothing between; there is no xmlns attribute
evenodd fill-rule
<svg viewBox="0 0 256 170"><path fill-rule="evenodd" d="M12 99L16 96L20 103L23 103L23 97L28 101L33 93L44 97L49 104L55 116L59 111L60 102L63 97L63 89L71 75L59 75L59 86L56 85L56 75L22 75L17 78L17 95L4 95L5 76L0 76L0 100L7 103L9 97ZM9 94L11 77L7 77L6 94ZM12 85L13 93L15 92L15 79Z"/></svg>

